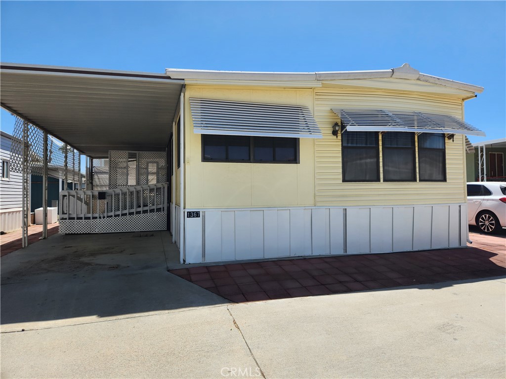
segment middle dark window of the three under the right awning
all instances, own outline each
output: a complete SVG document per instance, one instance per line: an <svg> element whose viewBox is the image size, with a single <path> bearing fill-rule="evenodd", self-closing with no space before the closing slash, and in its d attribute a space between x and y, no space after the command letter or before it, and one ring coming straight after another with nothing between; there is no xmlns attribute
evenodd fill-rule
<svg viewBox="0 0 506 379"><path fill-rule="evenodd" d="M382 139L383 180L416 181L414 133L387 132Z"/></svg>

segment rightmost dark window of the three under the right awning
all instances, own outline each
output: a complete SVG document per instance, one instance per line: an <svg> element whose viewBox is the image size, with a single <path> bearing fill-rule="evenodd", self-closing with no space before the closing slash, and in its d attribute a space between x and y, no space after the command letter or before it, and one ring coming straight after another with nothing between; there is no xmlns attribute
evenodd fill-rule
<svg viewBox="0 0 506 379"><path fill-rule="evenodd" d="M420 181L446 181L444 134L418 135L418 168Z"/></svg>

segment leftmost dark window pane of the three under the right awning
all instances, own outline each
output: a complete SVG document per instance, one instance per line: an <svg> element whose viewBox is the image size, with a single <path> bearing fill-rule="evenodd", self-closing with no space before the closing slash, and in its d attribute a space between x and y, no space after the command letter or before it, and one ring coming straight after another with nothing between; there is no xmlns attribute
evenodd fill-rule
<svg viewBox="0 0 506 379"><path fill-rule="evenodd" d="M379 181L378 141L374 131L342 133L343 181Z"/></svg>

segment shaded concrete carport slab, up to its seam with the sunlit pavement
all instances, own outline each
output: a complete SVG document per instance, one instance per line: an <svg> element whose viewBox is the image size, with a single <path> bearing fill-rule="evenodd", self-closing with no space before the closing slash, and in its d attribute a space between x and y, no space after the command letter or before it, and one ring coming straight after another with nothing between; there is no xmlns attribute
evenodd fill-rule
<svg viewBox="0 0 506 379"><path fill-rule="evenodd" d="M168 232L51 236L2 257L2 331L229 303L168 273L175 260Z"/></svg>

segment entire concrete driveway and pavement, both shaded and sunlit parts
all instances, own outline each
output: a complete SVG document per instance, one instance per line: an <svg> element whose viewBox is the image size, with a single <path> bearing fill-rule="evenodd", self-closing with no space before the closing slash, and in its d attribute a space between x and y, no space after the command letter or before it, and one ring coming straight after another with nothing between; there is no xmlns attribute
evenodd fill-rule
<svg viewBox="0 0 506 379"><path fill-rule="evenodd" d="M93 237L2 258L3 378L506 375L504 278L233 304L168 233Z"/></svg>

